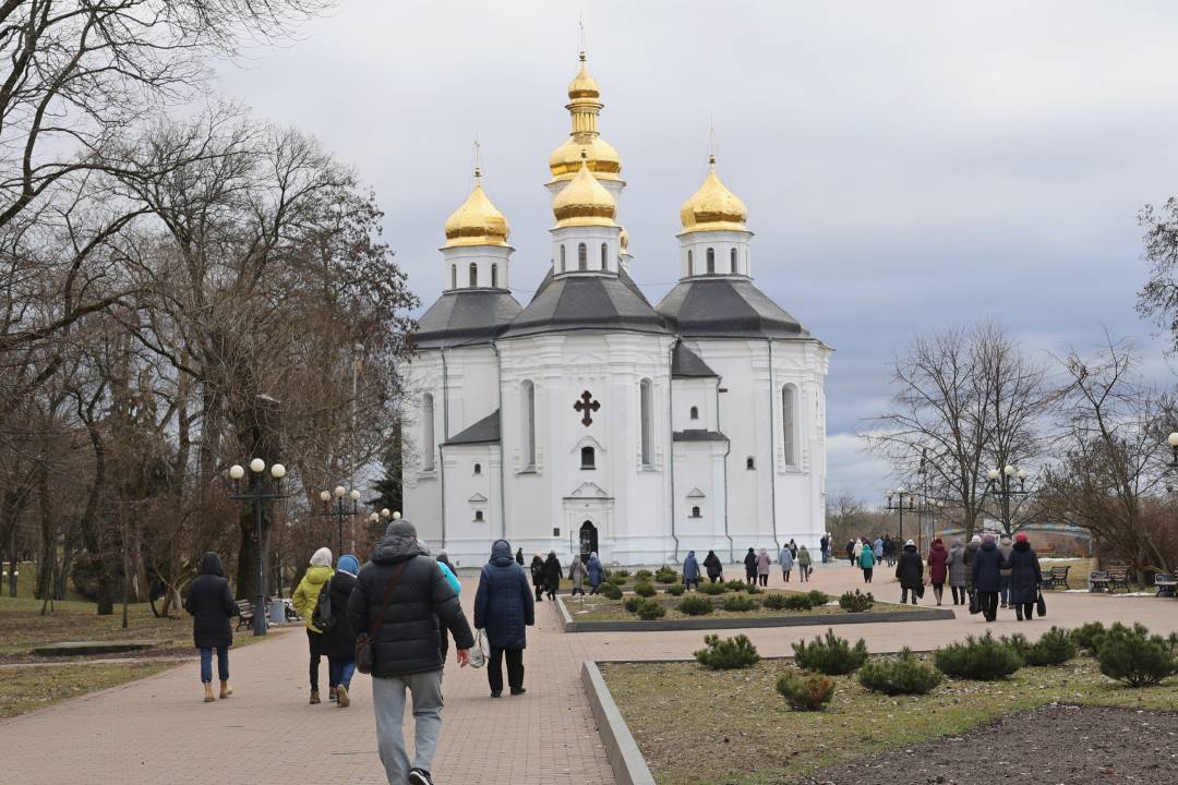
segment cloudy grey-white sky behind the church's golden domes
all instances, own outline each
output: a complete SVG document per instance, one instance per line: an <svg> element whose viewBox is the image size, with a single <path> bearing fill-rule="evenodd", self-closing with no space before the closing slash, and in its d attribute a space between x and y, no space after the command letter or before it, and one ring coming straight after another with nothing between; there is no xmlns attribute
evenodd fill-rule
<svg viewBox="0 0 1178 785"><path fill-rule="evenodd" d="M648 298L677 277L714 122L756 284L838 350L829 492L874 503L889 485L854 434L918 333L994 319L1060 352L1107 328L1169 377L1133 305L1136 214L1178 193L1178 4L343 0L221 68L219 91L357 168L426 305L477 133L525 302L578 16Z"/></svg>

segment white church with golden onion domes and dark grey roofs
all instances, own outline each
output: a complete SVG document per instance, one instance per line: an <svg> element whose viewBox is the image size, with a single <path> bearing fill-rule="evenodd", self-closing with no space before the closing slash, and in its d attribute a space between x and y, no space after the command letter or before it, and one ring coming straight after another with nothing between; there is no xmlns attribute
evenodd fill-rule
<svg viewBox="0 0 1178 785"><path fill-rule="evenodd" d="M816 546L832 350L753 282L747 209L715 159L680 209L679 284L651 306L584 53L567 108L548 162L551 266L529 302L511 295L508 221L477 169L445 222L446 288L408 374L405 517L464 565L498 538L565 564Z"/></svg>

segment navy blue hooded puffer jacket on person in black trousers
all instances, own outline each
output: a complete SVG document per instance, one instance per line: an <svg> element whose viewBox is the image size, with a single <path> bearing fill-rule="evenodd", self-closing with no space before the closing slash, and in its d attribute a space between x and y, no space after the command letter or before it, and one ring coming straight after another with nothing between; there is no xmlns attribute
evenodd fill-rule
<svg viewBox="0 0 1178 785"><path fill-rule="evenodd" d="M507 540L495 540L491 560L483 565L475 593L475 627L487 631L496 648L524 648L524 627L536 623L535 598L528 576L511 556Z"/></svg>

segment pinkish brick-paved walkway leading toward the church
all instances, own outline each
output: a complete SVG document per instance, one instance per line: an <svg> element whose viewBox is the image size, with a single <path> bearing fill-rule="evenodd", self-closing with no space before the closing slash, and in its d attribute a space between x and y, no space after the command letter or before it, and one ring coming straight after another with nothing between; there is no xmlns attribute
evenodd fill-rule
<svg viewBox="0 0 1178 785"><path fill-rule="evenodd" d="M730 574L736 574L730 570ZM795 576L796 580L796 576ZM464 579L463 599L474 598ZM781 583L775 574L770 585ZM807 587L830 593L861 585L859 572L828 565ZM896 584L871 587L894 599ZM926 596L926 604L931 603ZM931 648L986 627L1041 631L1092 619L1133 619L1158 632L1178 631L1178 601L1144 597L1050 594L1048 617L1018 625L1002 612L986 625L959 611L953 621L848 625L873 651ZM537 627L524 658L528 694L489 698L481 671L452 665L445 677L445 730L435 761L438 783L614 783L578 676L583 659L690 657L702 633L565 634L550 603L537 607ZM727 631L724 634L735 634ZM789 644L815 627L749 630L762 654L788 654ZM272 640L234 651L236 694L204 704L194 663L133 684L51 706L0 723L0 760L6 779L21 785L71 781L125 785L188 783L351 783L382 785L369 680L357 674L351 709L306 703L305 636L284 631ZM326 661L322 677L326 685Z"/></svg>

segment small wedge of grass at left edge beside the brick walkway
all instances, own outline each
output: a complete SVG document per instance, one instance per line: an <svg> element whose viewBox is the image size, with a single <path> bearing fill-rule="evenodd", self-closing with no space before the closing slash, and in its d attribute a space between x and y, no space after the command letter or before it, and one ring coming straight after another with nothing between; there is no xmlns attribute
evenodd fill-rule
<svg viewBox="0 0 1178 785"><path fill-rule="evenodd" d="M0 668L0 719L159 673L165 663Z"/></svg>

